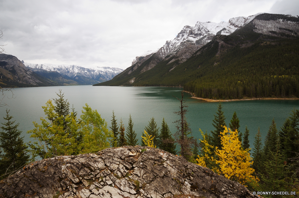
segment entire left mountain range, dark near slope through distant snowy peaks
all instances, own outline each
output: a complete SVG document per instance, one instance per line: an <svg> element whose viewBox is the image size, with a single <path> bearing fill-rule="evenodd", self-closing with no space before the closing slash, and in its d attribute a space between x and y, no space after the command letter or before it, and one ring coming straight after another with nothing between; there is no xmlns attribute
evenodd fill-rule
<svg viewBox="0 0 299 198"><path fill-rule="evenodd" d="M1 87L92 85L111 80L123 69L77 65L31 64L0 54Z"/></svg>

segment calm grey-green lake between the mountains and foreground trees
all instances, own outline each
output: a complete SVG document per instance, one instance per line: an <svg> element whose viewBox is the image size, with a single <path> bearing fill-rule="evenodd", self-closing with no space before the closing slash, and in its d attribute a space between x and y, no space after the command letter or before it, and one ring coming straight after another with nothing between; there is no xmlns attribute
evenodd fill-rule
<svg viewBox="0 0 299 198"><path fill-rule="evenodd" d="M19 130L25 142L30 141L26 132L33 129L33 121L41 123L40 117L45 117L42 106L47 100L56 98L58 90L62 89L65 99L68 99L71 107L74 105L78 116L82 114L82 107L87 103L93 110L97 109L99 114L111 126L112 110L115 112L117 122L122 118L125 127L128 126L129 115L132 116L134 130L137 133L139 143L145 126L151 117L155 118L158 127L161 128L163 117L175 132L173 122L179 116L173 112L179 111L179 100L182 88L178 87L112 87L112 86L52 86L52 87L28 87L15 88L12 95L7 93L3 99L9 106L0 107L0 122L4 123L2 117L5 110L10 109L10 115L16 123L20 123ZM191 98L191 95L184 93L187 100L187 120L191 125L193 136L201 138L199 129L203 132L214 130L212 120L216 115L217 102L205 102ZM274 118L277 129L283 125L292 109L299 109L299 100L243 100L223 102L223 111L226 117L226 124L230 122L233 113L236 111L240 120L240 130L245 131L245 126L250 131L249 141L253 146L254 135L258 127L262 133L263 140L269 130ZM2 125L1 125L2 126Z"/></svg>

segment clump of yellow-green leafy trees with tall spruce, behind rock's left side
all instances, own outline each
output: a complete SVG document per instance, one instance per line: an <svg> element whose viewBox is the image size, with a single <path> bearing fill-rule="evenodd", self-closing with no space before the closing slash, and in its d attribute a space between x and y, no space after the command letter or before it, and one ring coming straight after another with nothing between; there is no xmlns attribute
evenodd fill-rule
<svg viewBox="0 0 299 198"><path fill-rule="evenodd" d="M114 140L113 132L108 130L107 123L97 110L86 104L78 120L74 109L69 113L69 103L63 99L61 90L57 95L59 98L54 101L59 107L48 100L46 106L42 106L46 118L40 118L41 124L33 122L35 128L27 132L33 138L33 143L28 143L32 160L97 152L111 146L109 142Z"/></svg>

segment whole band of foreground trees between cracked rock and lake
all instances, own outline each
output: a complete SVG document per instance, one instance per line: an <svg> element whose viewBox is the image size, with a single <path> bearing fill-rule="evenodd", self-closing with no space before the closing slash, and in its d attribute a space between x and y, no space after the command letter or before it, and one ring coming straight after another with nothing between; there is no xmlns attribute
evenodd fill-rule
<svg viewBox="0 0 299 198"><path fill-rule="evenodd" d="M196 140L187 121L188 106L181 98L178 119L174 120L176 131L171 132L164 118L161 124L152 117L144 128L142 139L136 139L133 117L130 115L127 127L117 113L112 111L111 126L101 118L97 110L86 104L82 115L77 116L61 90L57 98L48 100L42 106L45 118L41 124L28 131L32 142L25 144L19 124L6 111L1 122L0 164L1 179L22 169L24 165L39 159L60 155L77 155L97 152L109 147L135 146L141 144L179 155L186 160L212 169L217 174L237 181L250 191L288 191L299 193L299 110L294 109L283 126L277 129L272 120L263 140L259 128L254 142L249 143L249 130L240 131L237 113L226 119L219 102L215 109L214 130L202 132ZM52 101L54 103L52 103ZM108 129L110 128L110 130ZM263 197L295 197L294 195L263 195Z"/></svg>

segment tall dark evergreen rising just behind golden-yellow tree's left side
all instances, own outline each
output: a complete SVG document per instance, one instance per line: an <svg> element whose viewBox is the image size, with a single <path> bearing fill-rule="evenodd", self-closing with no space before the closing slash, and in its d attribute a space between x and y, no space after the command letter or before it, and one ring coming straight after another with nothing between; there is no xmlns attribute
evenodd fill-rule
<svg viewBox="0 0 299 198"><path fill-rule="evenodd" d="M216 112L217 115L214 115L213 126L216 128L214 131L211 131L212 136L209 137L210 145L214 147L218 147L218 149L222 148L221 144L221 132L223 132L225 124L225 117L222 111L222 104L219 102L218 109Z"/></svg>

